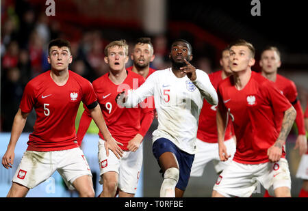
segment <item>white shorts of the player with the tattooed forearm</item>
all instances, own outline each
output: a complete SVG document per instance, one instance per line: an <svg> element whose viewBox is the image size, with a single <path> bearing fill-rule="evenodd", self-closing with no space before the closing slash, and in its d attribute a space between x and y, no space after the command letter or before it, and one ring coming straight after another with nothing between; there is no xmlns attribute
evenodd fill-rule
<svg viewBox="0 0 308 211"><path fill-rule="evenodd" d="M277 163L256 165L246 165L232 160L218 176L213 189L224 197L251 197L257 181L268 190L270 195L274 195L274 189L279 187L287 186L291 189L287 160L281 158Z"/></svg>

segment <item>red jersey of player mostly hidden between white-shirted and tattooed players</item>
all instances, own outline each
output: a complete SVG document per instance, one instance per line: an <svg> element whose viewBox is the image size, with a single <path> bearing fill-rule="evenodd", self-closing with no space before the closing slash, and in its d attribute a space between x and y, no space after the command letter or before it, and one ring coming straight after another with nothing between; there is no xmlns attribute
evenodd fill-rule
<svg viewBox="0 0 308 211"><path fill-rule="evenodd" d="M213 72L209 74L209 79L211 80L211 84L217 91L218 83L222 81L222 70ZM199 123L198 123L198 131L197 138L201 141L207 143L217 143L218 135L217 135L217 124L216 124L216 109L217 106L212 106L207 102L207 100L203 100L203 107L201 109ZM224 140L229 140L232 137L231 130L231 119L227 126L226 132L224 134Z"/></svg>

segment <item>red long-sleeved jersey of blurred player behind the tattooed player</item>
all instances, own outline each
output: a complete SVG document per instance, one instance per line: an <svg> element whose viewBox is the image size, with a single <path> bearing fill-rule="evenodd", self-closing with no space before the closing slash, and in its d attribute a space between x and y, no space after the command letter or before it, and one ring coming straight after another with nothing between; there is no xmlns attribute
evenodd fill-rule
<svg viewBox="0 0 308 211"><path fill-rule="evenodd" d="M291 102L291 104L294 106L294 109L296 110L297 114L295 123L298 128L298 135L306 135L303 110L300 105L300 101L297 100L298 94L294 82L285 78L284 76L281 76L280 74L277 74L277 78L274 84L283 93L287 100Z"/></svg>

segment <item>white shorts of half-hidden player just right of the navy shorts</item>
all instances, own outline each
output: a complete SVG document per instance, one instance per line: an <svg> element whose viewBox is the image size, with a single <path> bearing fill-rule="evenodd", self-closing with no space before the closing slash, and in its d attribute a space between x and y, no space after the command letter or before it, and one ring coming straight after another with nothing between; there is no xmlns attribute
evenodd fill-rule
<svg viewBox="0 0 308 211"><path fill-rule="evenodd" d="M192 177L201 177L205 166L211 160L213 160L216 172L219 173L233 159L236 150L236 145L233 138L224 141L224 145L226 145L227 152L231 155L231 158L225 162L221 162L218 152L218 143L207 143L201 141L200 139L196 139L196 145L198 152L194 156L194 163L192 163L192 171L190 173L190 176Z"/></svg>

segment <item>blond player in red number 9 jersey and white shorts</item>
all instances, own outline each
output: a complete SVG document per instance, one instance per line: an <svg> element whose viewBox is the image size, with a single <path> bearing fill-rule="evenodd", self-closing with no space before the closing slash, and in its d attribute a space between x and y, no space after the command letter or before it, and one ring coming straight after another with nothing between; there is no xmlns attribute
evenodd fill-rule
<svg viewBox="0 0 308 211"><path fill-rule="evenodd" d="M119 197L133 197L136 193L138 179L142 168L142 139L153 121L153 108L118 107L118 93L136 89L144 78L135 72L125 69L128 57L128 45L125 40L111 42L105 47L105 63L110 66L107 74L99 77L92 84L99 99L99 104L112 137L120 143L123 157L107 152L103 145L105 137L99 132L99 167L103 192L100 197L114 197L119 188ZM144 118L140 121L142 115ZM88 109L81 116L77 132L81 143L91 122Z"/></svg>

